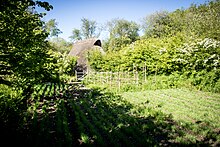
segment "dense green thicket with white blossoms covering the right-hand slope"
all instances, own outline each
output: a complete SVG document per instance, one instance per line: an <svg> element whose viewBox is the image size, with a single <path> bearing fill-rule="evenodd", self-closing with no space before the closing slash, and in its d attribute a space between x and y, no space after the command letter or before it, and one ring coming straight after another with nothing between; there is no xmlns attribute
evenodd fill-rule
<svg viewBox="0 0 220 147"><path fill-rule="evenodd" d="M184 76L199 89L220 92L219 9L217 0L152 14L140 40L105 55L90 52L90 65L97 71L141 71L146 64L148 75Z"/></svg>

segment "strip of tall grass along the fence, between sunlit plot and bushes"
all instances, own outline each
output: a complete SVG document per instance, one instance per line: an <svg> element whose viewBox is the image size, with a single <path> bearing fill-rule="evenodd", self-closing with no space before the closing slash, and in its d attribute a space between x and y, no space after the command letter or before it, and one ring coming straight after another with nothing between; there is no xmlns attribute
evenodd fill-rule
<svg viewBox="0 0 220 147"><path fill-rule="evenodd" d="M99 73L88 75L83 83L87 86L98 85L105 87L114 92L126 91L144 91L170 88L187 88L191 90L203 90L209 92L220 92L220 79L216 77L216 73L200 72L188 76L187 73L180 74L178 72L171 75L148 75L144 77L142 74L135 79L134 75L128 74L126 78L115 78L110 81L107 74ZM89 79L89 80L88 80Z"/></svg>

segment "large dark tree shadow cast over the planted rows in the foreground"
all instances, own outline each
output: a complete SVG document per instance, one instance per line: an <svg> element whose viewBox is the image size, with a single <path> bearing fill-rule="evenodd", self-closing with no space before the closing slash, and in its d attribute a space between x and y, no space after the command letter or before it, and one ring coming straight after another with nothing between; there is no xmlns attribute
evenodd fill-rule
<svg viewBox="0 0 220 147"><path fill-rule="evenodd" d="M22 146L129 147L206 144L202 141L174 141L184 133L176 129L178 125L171 116L150 108L136 108L119 95L99 89L73 88L47 99L50 101L39 106L39 111L33 113L32 118L27 117L26 125L19 130L9 130L6 137L11 142L5 143ZM49 107L51 105L54 109ZM44 113L39 113L40 110ZM143 111L147 111L148 115L140 115Z"/></svg>

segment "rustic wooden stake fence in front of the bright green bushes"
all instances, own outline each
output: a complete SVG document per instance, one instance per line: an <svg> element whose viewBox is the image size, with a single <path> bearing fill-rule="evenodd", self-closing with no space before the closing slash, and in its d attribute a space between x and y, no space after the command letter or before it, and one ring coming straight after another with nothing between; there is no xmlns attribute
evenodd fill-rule
<svg viewBox="0 0 220 147"><path fill-rule="evenodd" d="M140 66L139 66L140 67ZM157 67L154 75L147 75L147 66L144 64L142 70L138 71L137 66L133 65L132 71L117 71L117 72L95 72L95 71L75 71L76 79L78 81L83 80L87 84L103 84L108 85L112 88L117 88L119 91L124 85L129 86L148 86L149 89L152 87L157 88L158 85L164 85L164 81L157 79ZM80 76L79 76L80 75ZM83 75L83 76L81 76ZM81 77L81 78L79 78Z"/></svg>

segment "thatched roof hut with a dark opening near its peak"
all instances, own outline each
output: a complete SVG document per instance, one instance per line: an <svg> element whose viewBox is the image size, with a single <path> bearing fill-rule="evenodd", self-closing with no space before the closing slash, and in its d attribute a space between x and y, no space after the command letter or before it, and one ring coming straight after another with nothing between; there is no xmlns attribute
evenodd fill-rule
<svg viewBox="0 0 220 147"><path fill-rule="evenodd" d="M73 48L69 52L69 55L77 57L78 68L81 68L83 70L86 70L88 68L86 53L93 47L98 47L101 52L104 52L102 49L101 40L97 38L85 39L73 44Z"/></svg>

